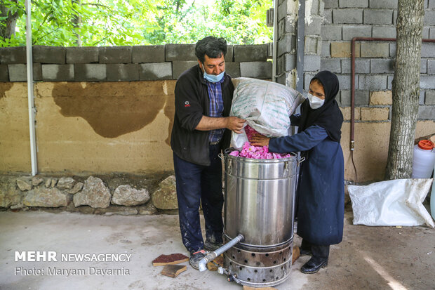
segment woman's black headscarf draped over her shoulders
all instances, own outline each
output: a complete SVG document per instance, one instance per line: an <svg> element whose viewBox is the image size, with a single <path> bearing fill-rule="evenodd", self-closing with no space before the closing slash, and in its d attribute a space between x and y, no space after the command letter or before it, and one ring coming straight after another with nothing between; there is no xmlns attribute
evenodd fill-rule
<svg viewBox="0 0 435 290"><path fill-rule="evenodd" d="M318 79L325 90L325 103L318 109L312 109L308 99L302 103L302 117L297 133L304 131L309 126L317 125L325 128L329 138L340 142L343 114L335 100L339 90L337 76L328 70L323 70L316 74L311 81L314 79Z"/></svg>

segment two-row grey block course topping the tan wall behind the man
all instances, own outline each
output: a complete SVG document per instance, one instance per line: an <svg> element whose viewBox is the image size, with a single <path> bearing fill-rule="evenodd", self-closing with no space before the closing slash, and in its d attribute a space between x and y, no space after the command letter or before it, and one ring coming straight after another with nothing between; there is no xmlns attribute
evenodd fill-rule
<svg viewBox="0 0 435 290"><path fill-rule="evenodd" d="M116 47L34 46L34 81L152 81L178 79L196 65L194 44ZM232 77L270 79L267 44L228 46ZM25 47L0 48L0 81L26 81Z"/></svg>

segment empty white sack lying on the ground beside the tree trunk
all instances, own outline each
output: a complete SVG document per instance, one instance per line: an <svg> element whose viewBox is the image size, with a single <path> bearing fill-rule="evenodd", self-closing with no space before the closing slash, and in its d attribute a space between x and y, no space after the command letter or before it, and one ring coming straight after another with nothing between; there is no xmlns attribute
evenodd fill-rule
<svg viewBox="0 0 435 290"><path fill-rule="evenodd" d="M422 202L431 178L396 179L370 185L349 185L354 225L423 225L435 228Z"/></svg>

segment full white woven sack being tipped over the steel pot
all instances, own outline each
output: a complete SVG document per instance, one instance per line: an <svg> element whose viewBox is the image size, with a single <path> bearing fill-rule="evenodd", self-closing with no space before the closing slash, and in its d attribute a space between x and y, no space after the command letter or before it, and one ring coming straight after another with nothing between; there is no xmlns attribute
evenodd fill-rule
<svg viewBox="0 0 435 290"><path fill-rule="evenodd" d="M272 81L246 77L234 79L234 86L230 116L246 119L245 124L268 137L288 135L289 117L305 100L301 93ZM232 133L232 147L240 150L246 141L246 133Z"/></svg>

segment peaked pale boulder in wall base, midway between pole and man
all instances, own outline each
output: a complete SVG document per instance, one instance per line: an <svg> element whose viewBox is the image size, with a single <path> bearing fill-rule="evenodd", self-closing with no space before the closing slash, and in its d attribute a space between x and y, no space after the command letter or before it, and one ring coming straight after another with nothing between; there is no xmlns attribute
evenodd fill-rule
<svg viewBox="0 0 435 290"><path fill-rule="evenodd" d="M96 208L106 208L110 204L109 188L102 182L100 178L89 176L86 179L83 190L74 195L74 206L91 206Z"/></svg>

